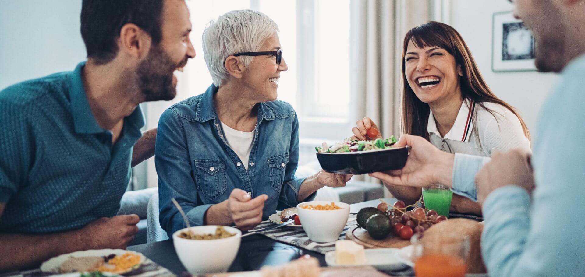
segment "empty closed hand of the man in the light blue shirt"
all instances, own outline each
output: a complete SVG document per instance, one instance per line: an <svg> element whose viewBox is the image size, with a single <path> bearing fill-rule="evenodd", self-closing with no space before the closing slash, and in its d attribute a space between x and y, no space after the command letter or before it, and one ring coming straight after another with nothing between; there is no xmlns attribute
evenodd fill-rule
<svg viewBox="0 0 585 277"><path fill-rule="evenodd" d="M534 190L534 176L530 157L530 151L521 149L493 154L491 161L477 172L477 202L483 206L491 192L507 185L517 185L531 193Z"/></svg>

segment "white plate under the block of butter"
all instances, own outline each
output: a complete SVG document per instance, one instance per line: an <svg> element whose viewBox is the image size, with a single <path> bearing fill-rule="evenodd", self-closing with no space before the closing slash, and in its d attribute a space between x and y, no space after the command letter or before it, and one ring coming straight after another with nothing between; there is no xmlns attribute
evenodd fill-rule
<svg viewBox="0 0 585 277"><path fill-rule="evenodd" d="M398 261L395 255L398 250L398 248L364 249L364 254L366 254L366 264L363 265L374 266L374 268L381 271L404 269L407 267L407 265L403 264L401 261ZM361 266L335 264L335 250L329 251L327 254L325 254L325 262L327 262L328 266Z"/></svg>

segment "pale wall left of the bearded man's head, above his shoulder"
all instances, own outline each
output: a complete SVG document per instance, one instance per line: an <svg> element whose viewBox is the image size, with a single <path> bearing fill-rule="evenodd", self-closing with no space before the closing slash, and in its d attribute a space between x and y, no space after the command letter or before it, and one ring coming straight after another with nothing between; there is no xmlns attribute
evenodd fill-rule
<svg viewBox="0 0 585 277"><path fill-rule="evenodd" d="M0 90L26 79L74 70L85 58L80 0L2 1Z"/></svg>

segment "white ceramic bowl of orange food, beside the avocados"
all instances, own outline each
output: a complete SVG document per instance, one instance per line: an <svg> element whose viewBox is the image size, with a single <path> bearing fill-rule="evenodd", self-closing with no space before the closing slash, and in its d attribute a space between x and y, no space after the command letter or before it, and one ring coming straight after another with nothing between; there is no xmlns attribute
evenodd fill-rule
<svg viewBox="0 0 585 277"><path fill-rule="evenodd" d="M339 239L339 234L349 218L349 204L335 202L339 210L309 210L305 205L331 205L331 201L309 201L297 205L298 219L309 239L317 243L330 243Z"/></svg>

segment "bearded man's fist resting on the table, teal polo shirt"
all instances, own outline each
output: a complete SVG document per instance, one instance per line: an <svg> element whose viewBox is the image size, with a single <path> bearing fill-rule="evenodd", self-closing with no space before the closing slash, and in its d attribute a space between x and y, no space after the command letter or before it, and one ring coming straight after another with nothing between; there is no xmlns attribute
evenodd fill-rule
<svg viewBox="0 0 585 277"><path fill-rule="evenodd" d="M88 243L88 249L126 249L138 233L138 221L140 218L136 214L102 217L87 224L79 234L84 238L82 241Z"/></svg>

